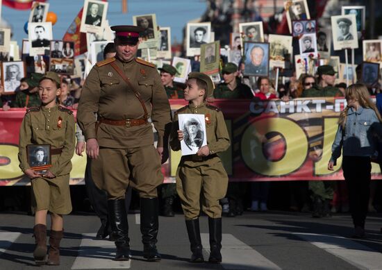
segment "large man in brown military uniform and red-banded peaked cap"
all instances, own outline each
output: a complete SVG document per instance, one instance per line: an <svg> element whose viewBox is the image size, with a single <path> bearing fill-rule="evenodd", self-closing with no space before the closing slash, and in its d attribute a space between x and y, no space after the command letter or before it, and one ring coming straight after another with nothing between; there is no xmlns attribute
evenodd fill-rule
<svg viewBox="0 0 382 270"><path fill-rule="evenodd" d="M115 260L129 260L131 256L124 205L126 187L131 185L140 195L143 256L157 261L156 188L163 183L160 162L171 111L155 65L135 58L143 29L111 29L116 36L116 56L98 62L86 78L78 105L78 125L85 135L86 153L92 158L94 183L108 194L110 225L117 247ZM157 149L153 146L150 117L158 131Z"/></svg>

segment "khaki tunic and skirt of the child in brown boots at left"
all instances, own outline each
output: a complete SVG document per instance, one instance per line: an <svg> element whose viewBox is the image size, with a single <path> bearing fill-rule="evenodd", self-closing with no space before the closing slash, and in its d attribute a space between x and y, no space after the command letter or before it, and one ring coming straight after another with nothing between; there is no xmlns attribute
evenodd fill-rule
<svg viewBox="0 0 382 270"><path fill-rule="evenodd" d="M76 146L75 124L72 111L55 106L53 108L30 108L22 121L19 137L19 162L22 171L30 169L26 146L28 144L50 144L51 149L60 149L60 154L51 155L55 178L31 180L35 195L36 211L49 210L56 214L72 212L69 192L70 161Z"/></svg>

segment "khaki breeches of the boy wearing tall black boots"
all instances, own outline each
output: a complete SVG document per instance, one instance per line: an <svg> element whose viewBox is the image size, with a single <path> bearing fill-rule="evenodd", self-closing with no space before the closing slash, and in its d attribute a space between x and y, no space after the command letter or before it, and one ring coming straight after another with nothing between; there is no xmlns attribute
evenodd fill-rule
<svg viewBox="0 0 382 270"><path fill-rule="evenodd" d="M179 166L176 171L176 191L181 199L185 219L196 219L200 205L208 217L222 217L219 200L226 195L228 176L222 162L212 167Z"/></svg>

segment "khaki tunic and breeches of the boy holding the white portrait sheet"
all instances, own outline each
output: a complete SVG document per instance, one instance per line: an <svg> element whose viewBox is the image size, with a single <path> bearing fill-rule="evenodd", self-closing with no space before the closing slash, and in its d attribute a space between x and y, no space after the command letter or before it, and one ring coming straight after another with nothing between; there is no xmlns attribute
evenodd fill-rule
<svg viewBox="0 0 382 270"><path fill-rule="evenodd" d="M179 114L202 114L206 119L207 145L210 155L183 155L176 171L176 189L181 199L185 219L196 219L200 214L200 190L202 210L208 217L222 217L219 199L226 195L228 176L222 160L216 153L229 148L230 139L222 111L214 106L189 104L176 111L172 124L170 145L172 150L181 150L177 130Z"/></svg>

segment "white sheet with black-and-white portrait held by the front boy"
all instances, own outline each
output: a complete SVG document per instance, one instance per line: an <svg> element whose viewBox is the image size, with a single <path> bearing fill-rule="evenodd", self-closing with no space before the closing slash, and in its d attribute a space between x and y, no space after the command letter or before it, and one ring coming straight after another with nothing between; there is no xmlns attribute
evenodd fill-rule
<svg viewBox="0 0 382 270"><path fill-rule="evenodd" d="M179 129L183 131L182 155L194 155L207 145L206 119L204 115L179 114Z"/></svg>

